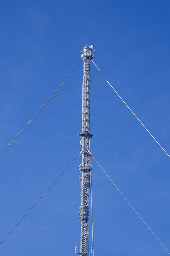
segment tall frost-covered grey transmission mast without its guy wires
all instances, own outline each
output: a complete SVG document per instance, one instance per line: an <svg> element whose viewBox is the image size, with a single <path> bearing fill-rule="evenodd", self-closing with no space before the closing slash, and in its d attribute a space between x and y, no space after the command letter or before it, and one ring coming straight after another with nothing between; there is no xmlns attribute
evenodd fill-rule
<svg viewBox="0 0 170 256"><path fill-rule="evenodd" d="M82 59L84 61L83 66L83 90L82 90L82 133L80 136L80 145L82 151L82 164L79 165L79 171L82 173L80 176L81 184L81 206L79 220L81 221L81 240L80 240L80 252L77 252L77 246L75 252L80 256L88 256L88 199L90 188L90 171L92 166L90 165L90 62L94 57L93 45L86 45L82 50ZM92 252L92 251L91 251Z"/></svg>

